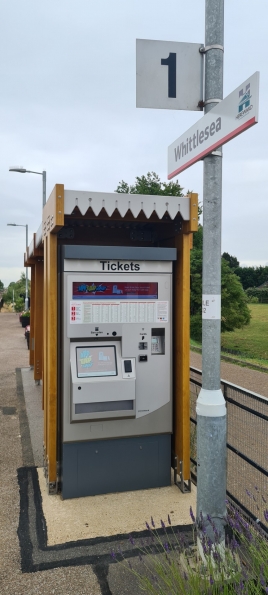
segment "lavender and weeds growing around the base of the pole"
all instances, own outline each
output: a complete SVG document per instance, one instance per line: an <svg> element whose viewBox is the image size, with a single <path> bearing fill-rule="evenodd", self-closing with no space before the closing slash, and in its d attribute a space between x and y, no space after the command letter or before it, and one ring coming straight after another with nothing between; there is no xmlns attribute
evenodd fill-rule
<svg viewBox="0 0 268 595"><path fill-rule="evenodd" d="M133 550L112 552L112 557L136 576L141 591L152 595L268 593L267 538L258 522L249 524L230 502L227 510L225 548L213 519L206 517L213 531L211 540L202 513L197 523L190 509L191 542L171 526L169 515L167 525L161 520L160 530L151 518L150 524L146 522L147 538L134 540L130 535ZM268 522L268 510L264 517Z"/></svg>

